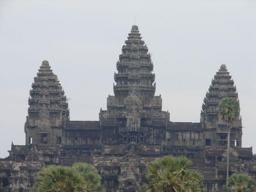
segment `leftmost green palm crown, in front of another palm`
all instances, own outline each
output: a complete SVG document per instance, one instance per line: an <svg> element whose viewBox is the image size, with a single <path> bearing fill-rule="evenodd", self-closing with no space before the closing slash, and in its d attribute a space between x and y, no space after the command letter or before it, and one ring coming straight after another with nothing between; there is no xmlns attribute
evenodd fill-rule
<svg viewBox="0 0 256 192"><path fill-rule="evenodd" d="M64 166L49 166L35 178L34 192L86 192L87 183L75 169ZM88 191L90 192L90 191Z"/></svg>

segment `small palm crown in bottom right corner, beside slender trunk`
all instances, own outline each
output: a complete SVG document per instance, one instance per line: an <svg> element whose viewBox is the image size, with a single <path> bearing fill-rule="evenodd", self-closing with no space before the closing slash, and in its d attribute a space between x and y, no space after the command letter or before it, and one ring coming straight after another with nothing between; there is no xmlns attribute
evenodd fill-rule
<svg viewBox="0 0 256 192"><path fill-rule="evenodd" d="M256 181L245 174L233 174L228 178L227 185L223 186L225 192L253 192L256 191Z"/></svg>

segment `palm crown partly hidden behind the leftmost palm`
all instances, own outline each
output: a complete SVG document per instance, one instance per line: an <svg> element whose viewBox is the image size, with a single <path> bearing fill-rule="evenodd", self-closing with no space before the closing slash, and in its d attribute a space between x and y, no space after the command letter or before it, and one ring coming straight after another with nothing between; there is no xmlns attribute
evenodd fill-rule
<svg viewBox="0 0 256 192"><path fill-rule="evenodd" d="M105 188L101 185L101 177L92 164L77 162L72 167L91 185L92 191L105 191Z"/></svg>

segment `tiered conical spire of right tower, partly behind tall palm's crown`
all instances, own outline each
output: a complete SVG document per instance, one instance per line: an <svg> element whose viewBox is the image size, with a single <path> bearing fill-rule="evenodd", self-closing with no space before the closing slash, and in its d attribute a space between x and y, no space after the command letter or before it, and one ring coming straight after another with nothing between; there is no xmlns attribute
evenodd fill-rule
<svg viewBox="0 0 256 192"><path fill-rule="evenodd" d="M206 93L201 111L201 121L205 128L216 127L218 118L218 104L223 97L238 98L236 86L231 79L226 65L222 64L214 76Z"/></svg>

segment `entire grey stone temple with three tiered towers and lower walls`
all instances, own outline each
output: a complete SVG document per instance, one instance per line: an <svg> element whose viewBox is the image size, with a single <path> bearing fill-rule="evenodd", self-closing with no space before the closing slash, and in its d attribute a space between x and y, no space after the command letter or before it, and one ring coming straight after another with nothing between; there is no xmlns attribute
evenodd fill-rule
<svg viewBox="0 0 256 192"><path fill-rule="evenodd" d="M226 65L221 65L204 97L201 121L172 122L156 96L153 62L133 26L114 74L114 96L100 109L99 121L72 121L67 97L42 61L30 90L25 123L26 145L11 145L0 159L0 190L31 191L39 170L48 165L96 166L106 191L138 192L146 182L146 165L165 155L186 156L199 169L209 192L222 191L226 179L227 125L218 116L224 97L238 99ZM203 97L203 96L202 96ZM230 169L256 177L252 147L242 148L242 118L230 133Z"/></svg>

